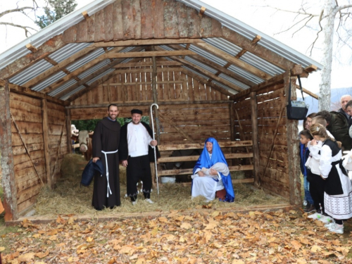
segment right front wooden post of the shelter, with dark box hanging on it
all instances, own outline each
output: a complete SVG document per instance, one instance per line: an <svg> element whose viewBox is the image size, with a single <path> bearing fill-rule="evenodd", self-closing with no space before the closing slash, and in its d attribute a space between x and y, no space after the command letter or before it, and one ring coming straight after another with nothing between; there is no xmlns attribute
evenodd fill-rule
<svg viewBox="0 0 352 264"><path fill-rule="evenodd" d="M289 82L296 83L296 78L291 80L289 73L284 77L284 91L288 98ZM292 86L294 87L294 86ZM296 89L291 89L291 99L296 99ZM286 112L284 112L286 113ZM291 205L299 206L301 199L301 170L299 168L299 144L298 144L298 121L286 120L287 126L287 155L289 160L289 202Z"/></svg>

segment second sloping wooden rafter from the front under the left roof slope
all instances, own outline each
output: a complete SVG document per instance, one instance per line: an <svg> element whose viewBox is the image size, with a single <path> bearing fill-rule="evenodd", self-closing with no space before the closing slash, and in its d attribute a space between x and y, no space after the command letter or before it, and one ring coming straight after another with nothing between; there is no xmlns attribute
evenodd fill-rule
<svg viewBox="0 0 352 264"><path fill-rule="evenodd" d="M122 49L124 49L124 48L123 47L118 47L118 48L111 49L111 51L109 51L109 54L121 51ZM69 80L73 79L77 75L80 75L81 73L83 73L85 70L88 70L89 68L92 68L94 65L96 65L96 64L100 63L101 61L105 60L109 54L102 54L101 56L98 56L98 57L94 58L94 60L89 61L89 63L86 63L85 65L83 65L82 67L78 68L77 70L74 70L72 73L70 73L69 75L66 75L65 77L61 78L57 82L54 82L54 84L50 84L48 87L42 89L42 91L40 91L40 92L42 92L44 94L49 94L49 92L54 91L54 89L60 87L65 82L68 82ZM113 65L115 65L115 64L113 64Z"/></svg>

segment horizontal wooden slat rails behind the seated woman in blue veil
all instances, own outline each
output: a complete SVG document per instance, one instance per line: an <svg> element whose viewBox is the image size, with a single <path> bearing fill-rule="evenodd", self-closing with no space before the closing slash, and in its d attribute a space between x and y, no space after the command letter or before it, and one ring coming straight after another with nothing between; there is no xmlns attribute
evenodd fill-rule
<svg viewBox="0 0 352 264"><path fill-rule="evenodd" d="M251 140L246 141L236 141L236 142L218 142L219 146L224 151L226 148L236 148L236 147L248 147L253 146L253 142ZM170 145L160 145L158 146L159 151L161 152L161 158L158 158L158 176L171 176L171 175L191 175L193 172L193 168L191 169L180 169L180 170L162 170L160 163L176 163L182 161L196 161L199 156L177 156L177 157L168 157L163 156L163 152L167 151L176 151L176 150L189 150L189 149L203 149L204 143L200 144L170 144ZM248 150L248 149L247 149ZM234 158L253 158L253 152L241 152L241 153L224 153L225 158L227 160ZM253 164L251 165L230 165L231 171L242 171L242 170L253 170ZM247 183L254 182L254 177L247 179L237 179L232 180L233 183Z"/></svg>

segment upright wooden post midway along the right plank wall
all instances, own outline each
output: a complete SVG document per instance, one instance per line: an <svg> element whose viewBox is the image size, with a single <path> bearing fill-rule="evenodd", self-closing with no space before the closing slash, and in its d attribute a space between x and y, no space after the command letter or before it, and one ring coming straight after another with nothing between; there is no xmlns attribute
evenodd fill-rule
<svg viewBox="0 0 352 264"><path fill-rule="evenodd" d="M252 151L253 151L253 167L254 167L254 185L260 185L259 179L259 145L258 145L258 106L257 93L251 92L251 124L252 124Z"/></svg>

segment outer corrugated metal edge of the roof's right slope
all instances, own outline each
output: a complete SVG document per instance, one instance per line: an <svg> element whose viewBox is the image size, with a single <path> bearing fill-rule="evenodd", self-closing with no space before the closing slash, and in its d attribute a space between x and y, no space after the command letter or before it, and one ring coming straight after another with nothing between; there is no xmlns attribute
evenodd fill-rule
<svg viewBox="0 0 352 264"><path fill-rule="evenodd" d="M324 65L322 65L318 61L313 60L313 58L310 58L305 54L302 54L301 52L296 51L295 49L292 49L286 44L279 42L277 39L270 37L268 34L260 32L259 30L256 30L254 27L251 27L250 25L247 25L246 23L241 22L237 18L234 18L231 15L224 13L213 6L209 6L208 4L203 3L202 1L199 1L199 0L176 0L176 1L179 1L191 8L194 8L197 11L200 11L201 7L205 7L206 11L204 12L204 14L208 15L210 18L214 18L215 20L218 20L222 25L225 25L226 27L230 28L230 30L234 30L234 27L237 27L237 28L241 28L242 31L244 32L259 35L260 37L262 37L262 41L264 40L266 42L271 42L271 44L273 44L274 46L281 47L282 49L288 51L294 56L304 57L306 61L317 66L318 70L321 70L324 67ZM237 30L234 30L234 31L237 32ZM241 33L241 34L244 35L244 33Z"/></svg>

